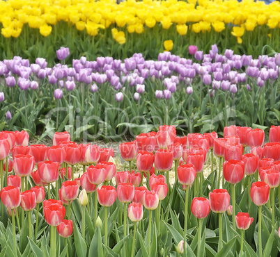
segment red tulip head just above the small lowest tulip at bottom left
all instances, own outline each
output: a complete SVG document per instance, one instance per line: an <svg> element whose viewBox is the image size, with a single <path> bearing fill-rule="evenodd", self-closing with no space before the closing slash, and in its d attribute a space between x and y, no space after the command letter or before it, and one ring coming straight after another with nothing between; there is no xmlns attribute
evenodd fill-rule
<svg viewBox="0 0 280 257"><path fill-rule="evenodd" d="M62 202L45 200L43 206L47 224L59 226L65 217L65 207L62 205Z"/></svg>

